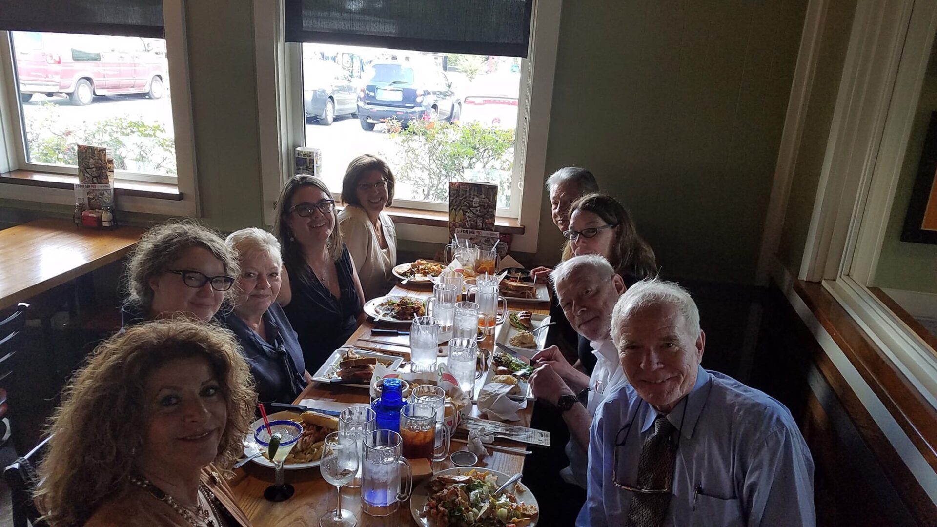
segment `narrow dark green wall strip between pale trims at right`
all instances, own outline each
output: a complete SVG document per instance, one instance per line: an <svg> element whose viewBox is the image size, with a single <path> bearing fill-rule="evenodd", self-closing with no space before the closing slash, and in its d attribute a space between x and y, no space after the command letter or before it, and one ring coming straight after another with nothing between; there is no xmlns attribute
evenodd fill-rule
<svg viewBox="0 0 937 527"><path fill-rule="evenodd" d="M804 117L803 136L797 151L794 179L784 215L778 257L792 274L800 270L800 261L811 226L813 201L826 154L826 142L833 120L837 92L840 89L843 61L849 47L855 2L833 0L826 11L824 33L820 42L811 86L810 101Z"/></svg>

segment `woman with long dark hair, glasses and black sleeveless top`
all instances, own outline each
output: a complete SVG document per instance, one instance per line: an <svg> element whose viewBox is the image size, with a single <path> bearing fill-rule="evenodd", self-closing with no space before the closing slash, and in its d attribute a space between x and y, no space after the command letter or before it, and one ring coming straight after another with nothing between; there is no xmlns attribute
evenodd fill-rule
<svg viewBox="0 0 937 527"><path fill-rule="evenodd" d="M315 371L364 322L361 280L320 178L293 176L276 203L274 233L287 271L277 301L299 337L305 368Z"/></svg>

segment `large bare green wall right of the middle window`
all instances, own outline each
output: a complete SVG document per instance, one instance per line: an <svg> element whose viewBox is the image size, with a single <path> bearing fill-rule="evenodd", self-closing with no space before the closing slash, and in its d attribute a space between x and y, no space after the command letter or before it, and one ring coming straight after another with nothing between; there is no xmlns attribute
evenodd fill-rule
<svg viewBox="0 0 937 527"><path fill-rule="evenodd" d="M752 283L806 4L564 2L547 169L596 173L665 275Z"/></svg>

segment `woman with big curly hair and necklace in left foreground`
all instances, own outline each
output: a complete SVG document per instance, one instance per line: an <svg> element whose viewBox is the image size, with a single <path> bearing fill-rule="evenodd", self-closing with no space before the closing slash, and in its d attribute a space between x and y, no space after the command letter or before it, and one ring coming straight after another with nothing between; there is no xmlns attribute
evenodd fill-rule
<svg viewBox="0 0 937 527"><path fill-rule="evenodd" d="M223 473L257 394L234 336L158 320L100 344L63 392L36 500L51 525L249 525Z"/></svg>

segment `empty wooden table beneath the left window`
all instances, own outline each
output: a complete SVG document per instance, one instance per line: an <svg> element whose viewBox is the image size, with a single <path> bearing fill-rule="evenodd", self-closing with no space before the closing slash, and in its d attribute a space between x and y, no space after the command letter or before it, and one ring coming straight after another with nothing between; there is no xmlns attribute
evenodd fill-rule
<svg viewBox="0 0 937 527"><path fill-rule="evenodd" d="M0 309L123 258L143 229L85 229L41 218L0 231Z"/></svg>

